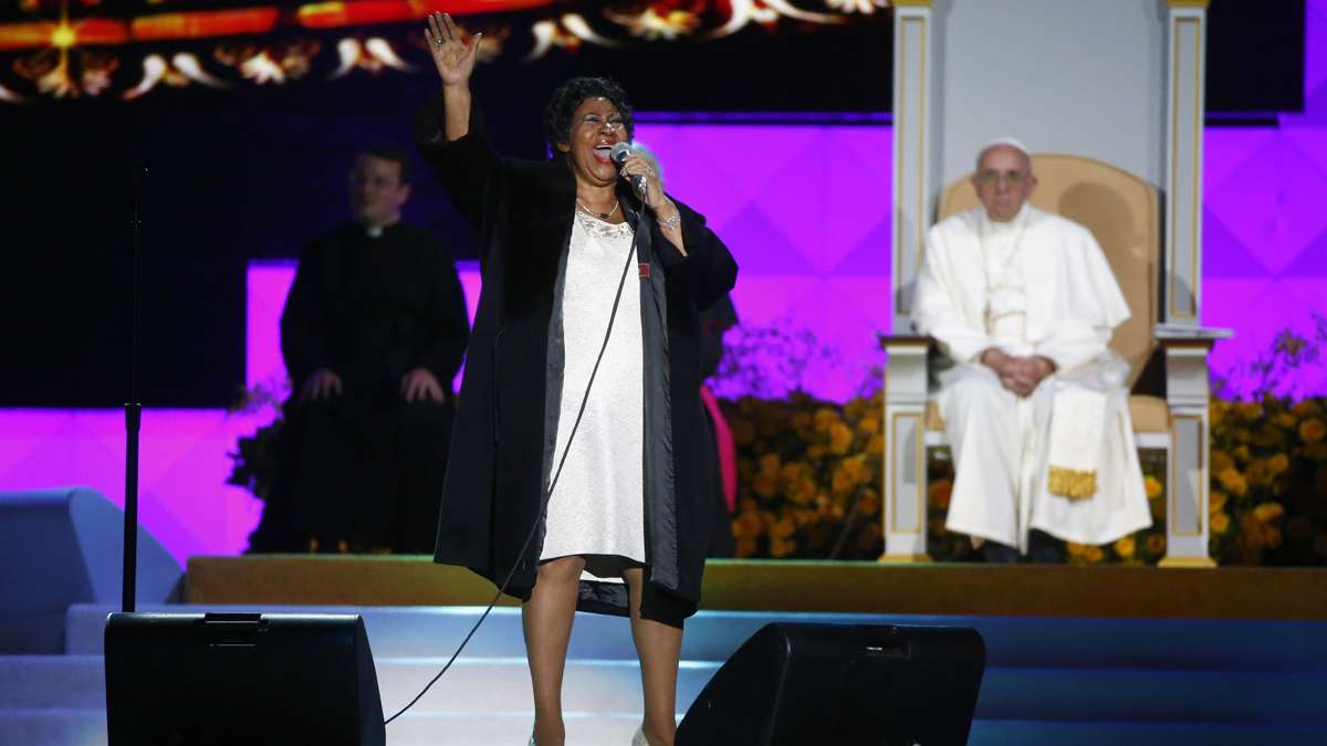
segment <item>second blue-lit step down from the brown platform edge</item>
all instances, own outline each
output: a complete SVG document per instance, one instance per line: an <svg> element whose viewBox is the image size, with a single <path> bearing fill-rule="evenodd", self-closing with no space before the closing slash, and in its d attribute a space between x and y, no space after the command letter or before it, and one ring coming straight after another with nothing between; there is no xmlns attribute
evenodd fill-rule
<svg viewBox="0 0 1327 746"><path fill-rule="evenodd" d="M405 706L445 658L377 658L385 715ZM685 661L678 709L685 711L718 669ZM1068 721L1221 721L1308 723L1320 714L1323 672L1196 672L1156 669L989 668L977 717L1019 721L1054 714ZM0 710L105 706L100 656L0 657ZM411 713L532 710L524 658L460 658ZM622 717L640 710L634 661L572 658L564 706Z"/></svg>

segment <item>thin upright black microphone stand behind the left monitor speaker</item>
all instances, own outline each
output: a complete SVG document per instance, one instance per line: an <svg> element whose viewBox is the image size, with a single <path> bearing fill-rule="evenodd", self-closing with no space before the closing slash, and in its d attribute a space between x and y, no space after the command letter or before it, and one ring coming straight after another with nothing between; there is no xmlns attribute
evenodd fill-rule
<svg viewBox="0 0 1327 746"><path fill-rule="evenodd" d="M147 169L135 163L129 175L129 191L133 199L130 234L133 236L133 320L130 321L129 342L129 401L125 404L125 569L123 569L123 612L134 612L134 592L138 589L138 433L143 419L143 405L138 401L138 327L139 327L139 276L142 275L142 242L139 232L142 219L138 206L142 198L143 181Z"/></svg>

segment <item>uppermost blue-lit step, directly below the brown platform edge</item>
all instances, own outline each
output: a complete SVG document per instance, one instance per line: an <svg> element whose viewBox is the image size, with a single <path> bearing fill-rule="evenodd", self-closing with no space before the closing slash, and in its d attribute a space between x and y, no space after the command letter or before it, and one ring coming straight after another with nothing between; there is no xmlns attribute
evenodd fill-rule
<svg viewBox="0 0 1327 746"><path fill-rule="evenodd" d="M102 653L104 605L73 605L66 652ZM232 607L174 605L141 611L204 613L358 613L376 657L447 657L483 612L478 607ZM702 612L686 621L682 657L726 661L771 621L971 627L995 668L1143 668L1180 670L1327 670L1327 623L1277 620L1135 620L990 616L913 616L791 612ZM495 608L466 646L466 657L523 657L520 612ZM576 615L571 657L636 660L624 619Z"/></svg>

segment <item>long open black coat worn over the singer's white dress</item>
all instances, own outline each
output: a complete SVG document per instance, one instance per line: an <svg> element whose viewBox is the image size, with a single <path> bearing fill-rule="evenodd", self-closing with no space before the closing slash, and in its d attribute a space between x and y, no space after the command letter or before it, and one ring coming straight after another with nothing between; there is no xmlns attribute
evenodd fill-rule
<svg viewBox="0 0 1327 746"><path fill-rule="evenodd" d="M443 488L434 559L471 568L528 599L543 544L541 504L561 389L561 277L576 210L576 183L565 158L498 158L478 117L466 137L442 137L442 97L419 114L421 153L456 208L480 236L483 292L466 356L456 426ZM641 204L620 190L638 215ZM675 202L675 200L674 200ZM630 272L638 285L645 346L645 538L648 577L689 604L699 601L713 510L701 388L699 311L733 288L736 263L705 226L677 203L687 255L669 243L648 214L637 248L648 259ZM637 280L641 276L641 280ZM633 320L618 319L616 323ZM552 329L552 333L551 333ZM533 539L527 536L539 520ZM515 567L515 572L512 568ZM602 585L605 588L596 588ZM625 595L581 587L584 611L625 612Z"/></svg>

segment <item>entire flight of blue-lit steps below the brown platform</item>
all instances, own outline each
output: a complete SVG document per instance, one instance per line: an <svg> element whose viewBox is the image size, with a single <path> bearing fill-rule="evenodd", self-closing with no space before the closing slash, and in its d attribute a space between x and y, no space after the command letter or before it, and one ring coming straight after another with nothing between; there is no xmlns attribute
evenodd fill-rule
<svg viewBox="0 0 1327 746"><path fill-rule="evenodd" d="M240 611L153 607L142 611ZM0 657L0 743L105 743L102 631L109 607L73 607L65 656ZM386 715L442 668L483 609L243 607L360 613ZM987 670L973 745L1324 743L1327 624L702 612L687 621L678 714L725 660L770 621L978 629ZM881 693L888 696L888 693ZM564 704L569 743L626 743L640 721L640 670L625 620L579 615ZM532 705L519 611L498 608L464 656L406 715L391 746L524 743Z"/></svg>

